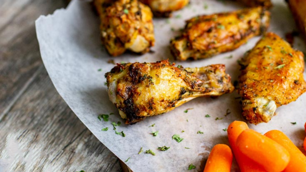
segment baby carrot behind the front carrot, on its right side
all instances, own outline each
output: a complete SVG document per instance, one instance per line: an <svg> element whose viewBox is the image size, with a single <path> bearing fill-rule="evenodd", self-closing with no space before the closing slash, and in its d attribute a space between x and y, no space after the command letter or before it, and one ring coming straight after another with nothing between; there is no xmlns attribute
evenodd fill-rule
<svg viewBox="0 0 306 172"><path fill-rule="evenodd" d="M284 133L278 130L271 130L267 132L265 136L276 141L289 151L290 161L283 172L306 172L306 156Z"/></svg>

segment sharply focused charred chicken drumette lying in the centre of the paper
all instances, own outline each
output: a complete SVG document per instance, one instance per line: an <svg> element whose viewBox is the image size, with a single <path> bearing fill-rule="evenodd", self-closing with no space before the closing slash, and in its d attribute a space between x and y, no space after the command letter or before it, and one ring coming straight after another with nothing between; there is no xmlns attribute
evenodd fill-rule
<svg viewBox="0 0 306 172"><path fill-rule="evenodd" d="M222 64L183 68L168 60L126 63L117 64L105 77L110 101L126 124L163 114L196 97L234 90Z"/></svg>

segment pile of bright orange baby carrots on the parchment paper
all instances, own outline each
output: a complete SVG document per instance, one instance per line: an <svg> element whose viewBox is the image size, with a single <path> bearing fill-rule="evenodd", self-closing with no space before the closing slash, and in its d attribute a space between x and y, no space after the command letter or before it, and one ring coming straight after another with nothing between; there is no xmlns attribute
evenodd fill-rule
<svg viewBox="0 0 306 172"><path fill-rule="evenodd" d="M281 131L262 135L245 122L234 121L227 136L231 149L226 144L215 145L204 172L230 172L233 155L241 172L306 172L306 156Z"/></svg>

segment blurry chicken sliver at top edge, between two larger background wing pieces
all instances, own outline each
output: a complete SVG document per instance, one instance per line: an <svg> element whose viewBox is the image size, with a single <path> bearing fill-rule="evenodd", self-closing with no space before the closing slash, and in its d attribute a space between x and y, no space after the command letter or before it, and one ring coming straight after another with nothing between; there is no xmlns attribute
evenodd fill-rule
<svg viewBox="0 0 306 172"><path fill-rule="evenodd" d="M189 0L140 0L148 5L154 13L154 17L170 17L172 11L185 7Z"/></svg>

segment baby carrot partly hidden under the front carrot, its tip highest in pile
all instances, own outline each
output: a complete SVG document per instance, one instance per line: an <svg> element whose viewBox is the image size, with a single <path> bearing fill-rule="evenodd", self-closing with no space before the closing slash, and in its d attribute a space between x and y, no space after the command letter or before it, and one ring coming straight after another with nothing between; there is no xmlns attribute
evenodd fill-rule
<svg viewBox="0 0 306 172"><path fill-rule="evenodd" d="M241 172L267 172L262 166L255 163L252 159L243 155L236 146L236 140L243 130L248 129L248 125L242 121L234 121L227 128L227 136L230 142L235 159Z"/></svg>

